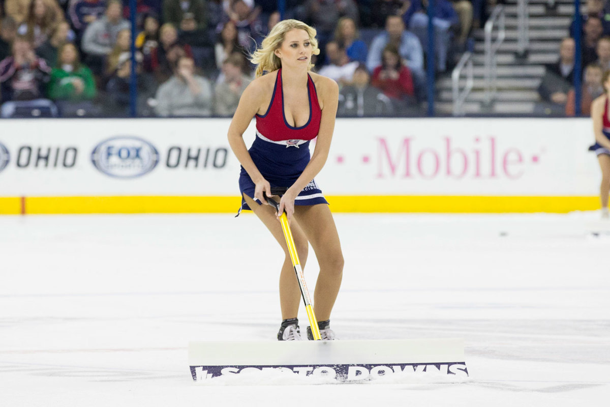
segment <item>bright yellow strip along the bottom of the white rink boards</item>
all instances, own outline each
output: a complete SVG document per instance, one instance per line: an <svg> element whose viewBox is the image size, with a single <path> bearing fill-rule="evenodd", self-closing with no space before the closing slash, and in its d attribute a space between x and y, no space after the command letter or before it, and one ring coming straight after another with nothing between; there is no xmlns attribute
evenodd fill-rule
<svg viewBox="0 0 610 407"><path fill-rule="evenodd" d="M519 213L594 211L598 196L327 196L332 212ZM0 214L237 213L239 196L0 197Z"/></svg>

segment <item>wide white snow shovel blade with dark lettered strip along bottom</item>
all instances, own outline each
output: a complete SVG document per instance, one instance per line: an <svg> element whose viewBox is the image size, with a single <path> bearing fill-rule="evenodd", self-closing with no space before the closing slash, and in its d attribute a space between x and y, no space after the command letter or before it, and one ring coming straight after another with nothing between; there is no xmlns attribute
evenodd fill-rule
<svg viewBox="0 0 610 407"><path fill-rule="evenodd" d="M468 376L462 339L191 342L194 381L281 370L339 382L428 373Z"/></svg>

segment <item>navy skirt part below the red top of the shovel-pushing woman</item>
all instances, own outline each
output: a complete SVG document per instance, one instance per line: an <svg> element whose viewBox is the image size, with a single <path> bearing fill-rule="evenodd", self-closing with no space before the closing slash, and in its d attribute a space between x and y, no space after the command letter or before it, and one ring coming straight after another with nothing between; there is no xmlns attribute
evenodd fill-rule
<svg viewBox="0 0 610 407"><path fill-rule="evenodd" d="M296 144L276 144L268 142L260 137L254 139L254 143L248 150L256 168L262 176L273 187L290 188L295 183L296 179L301 176L309 160L309 142L301 145ZM246 201L243 199L243 194L254 199L254 182L242 167L239 174L239 190L242 193L242 210L251 210ZM312 179L309 184L295 198L295 205L315 205L328 204L322 191L318 188L315 180Z"/></svg>

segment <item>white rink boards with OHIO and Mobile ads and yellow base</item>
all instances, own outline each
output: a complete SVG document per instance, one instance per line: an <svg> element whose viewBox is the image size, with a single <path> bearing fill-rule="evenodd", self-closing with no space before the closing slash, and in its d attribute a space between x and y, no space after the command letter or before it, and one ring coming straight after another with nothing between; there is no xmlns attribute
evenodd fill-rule
<svg viewBox="0 0 610 407"><path fill-rule="evenodd" d="M590 211L601 175L589 122L337 119L315 182L334 212ZM6 121L0 214L235 213L229 123ZM254 133L253 121L246 146Z"/></svg>

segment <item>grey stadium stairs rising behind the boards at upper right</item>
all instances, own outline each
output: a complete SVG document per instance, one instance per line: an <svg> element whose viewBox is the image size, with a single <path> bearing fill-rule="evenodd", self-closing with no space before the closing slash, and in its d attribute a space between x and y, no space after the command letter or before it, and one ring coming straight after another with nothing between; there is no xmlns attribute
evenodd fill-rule
<svg viewBox="0 0 610 407"><path fill-rule="evenodd" d="M544 64L559 59L559 44L568 35L574 10L573 0L529 0L529 47L519 55L517 45L517 0L506 0L504 5L506 38L497 53L497 93L491 104L484 92L484 30L473 33L474 87L468 95L464 110L467 115L517 114L531 115L540 101L537 87L544 76ZM584 3L582 12L584 10ZM460 86L465 85L462 76ZM439 115L453 113L451 72L441 75L436 82L436 111Z"/></svg>

